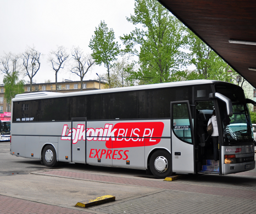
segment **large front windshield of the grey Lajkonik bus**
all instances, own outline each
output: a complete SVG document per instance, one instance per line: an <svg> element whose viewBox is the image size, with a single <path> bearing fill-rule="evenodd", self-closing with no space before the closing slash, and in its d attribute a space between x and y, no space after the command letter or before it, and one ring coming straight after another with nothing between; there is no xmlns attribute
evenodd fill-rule
<svg viewBox="0 0 256 214"><path fill-rule="evenodd" d="M251 117L243 95L243 90L234 87L218 86L216 91L220 92L232 101L233 115L229 117L226 112L226 105L219 101L220 116L224 128L225 142L248 142L253 141L253 130Z"/></svg>

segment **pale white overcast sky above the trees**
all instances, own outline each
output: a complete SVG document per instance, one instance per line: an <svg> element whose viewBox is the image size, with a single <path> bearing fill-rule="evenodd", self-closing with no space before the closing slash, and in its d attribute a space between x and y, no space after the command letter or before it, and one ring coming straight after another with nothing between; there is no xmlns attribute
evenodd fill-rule
<svg viewBox="0 0 256 214"><path fill-rule="evenodd" d="M43 55L41 67L34 80L55 82L55 72L47 62L49 51L63 45L70 52L79 46L84 53L91 53L90 39L101 20L113 28L116 41L130 33L135 26L126 20L134 11L134 0L0 0L0 56L4 53L23 53L34 45ZM58 73L58 82L63 79L80 80L66 70ZM94 66L84 80L103 76L104 66ZM3 74L0 74L2 83ZM24 77L24 80L29 80Z"/></svg>

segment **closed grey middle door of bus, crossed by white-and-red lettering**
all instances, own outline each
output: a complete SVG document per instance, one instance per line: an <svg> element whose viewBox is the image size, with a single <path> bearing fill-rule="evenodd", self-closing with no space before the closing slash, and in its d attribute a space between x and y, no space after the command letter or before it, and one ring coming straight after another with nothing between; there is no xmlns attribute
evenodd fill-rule
<svg viewBox="0 0 256 214"><path fill-rule="evenodd" d="M72 159L74 163L86 163L86 133L85 136L81 136L83 130L86 130L86 118L71 118L71 128L73 135L71 135L71 151ZM85 138L84 138L85 137ZM81 139L81 140L80 140Z"/></svg>

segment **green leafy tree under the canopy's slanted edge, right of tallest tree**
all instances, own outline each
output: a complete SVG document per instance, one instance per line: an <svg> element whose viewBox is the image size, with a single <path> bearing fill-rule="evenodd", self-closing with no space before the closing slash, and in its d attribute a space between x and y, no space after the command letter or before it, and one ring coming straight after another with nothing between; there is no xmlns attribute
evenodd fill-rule
<svg viewBox="0 0 256 214"><path fill-rule="evenodd" d="M235 74L232 68L193 32L189 35L189 63L196 66L193 77L230 82Z"/></svg>

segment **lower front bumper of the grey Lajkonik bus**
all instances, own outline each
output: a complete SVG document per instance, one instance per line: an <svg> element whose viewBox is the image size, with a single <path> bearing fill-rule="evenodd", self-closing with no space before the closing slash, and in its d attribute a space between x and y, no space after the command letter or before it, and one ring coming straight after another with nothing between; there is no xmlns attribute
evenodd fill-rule
<svg viewBox="0 0 256 214"><path fill-rule="evenodd" d="M223 164L223 175L244 172L253 170L255 168L255 160L252 162L241 163L241 164Z"/></svg>

